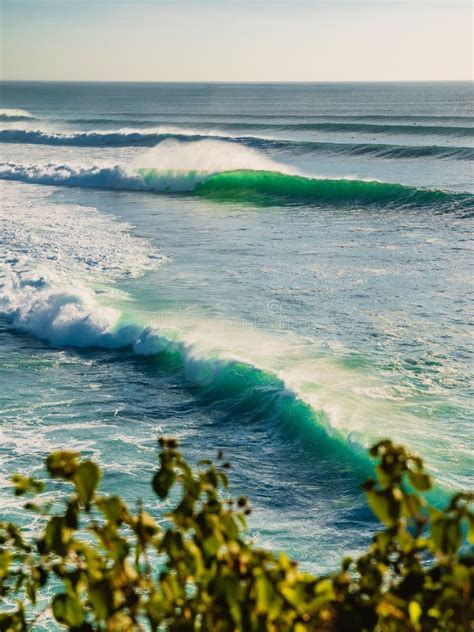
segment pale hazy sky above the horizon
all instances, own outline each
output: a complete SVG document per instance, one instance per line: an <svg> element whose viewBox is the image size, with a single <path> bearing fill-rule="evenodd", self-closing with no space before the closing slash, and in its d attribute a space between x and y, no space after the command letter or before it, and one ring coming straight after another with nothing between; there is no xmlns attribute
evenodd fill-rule
<svg viewBox="0 0 474 632"><path fill-rule="evenodd" d="M470 0L0 0L3 79L472 78Z"/></svg>

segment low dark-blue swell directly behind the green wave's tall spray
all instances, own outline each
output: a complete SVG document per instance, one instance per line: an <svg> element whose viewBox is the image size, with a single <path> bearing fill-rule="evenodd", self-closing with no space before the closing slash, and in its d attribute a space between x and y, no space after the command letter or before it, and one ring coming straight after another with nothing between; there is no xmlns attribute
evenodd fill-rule
<svg viewBox="0 0 474 632"><path fill-rule="evenodd" d="M166 140L202 141L204 139L239 143L246 147L289 154L326 154L369 156L380 158L440 158L474 160L472 147L444 147L439 145L390 145L379 143L332 143L291 141L260 138L258 136L225 136L193 133L193 131L155 131L124 129L117 131L90 130L84 132L47 132L42 130L3 129L0 142L79 147L128 146L153 147Z"/></svg>

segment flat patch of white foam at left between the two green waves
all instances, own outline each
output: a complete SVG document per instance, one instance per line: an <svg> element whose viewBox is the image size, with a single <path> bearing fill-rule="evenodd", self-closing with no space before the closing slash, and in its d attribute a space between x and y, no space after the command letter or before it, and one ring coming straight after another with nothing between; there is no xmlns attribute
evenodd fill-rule
<svg viewBox="0 0 474 632"><path fill-rule="evenodd" d="M41 187L0 183L0 265L40 268L75 278L137 277L165 260L133 227L92 207L56 204ZM104 279L105 277L105 279Z"/></svg>

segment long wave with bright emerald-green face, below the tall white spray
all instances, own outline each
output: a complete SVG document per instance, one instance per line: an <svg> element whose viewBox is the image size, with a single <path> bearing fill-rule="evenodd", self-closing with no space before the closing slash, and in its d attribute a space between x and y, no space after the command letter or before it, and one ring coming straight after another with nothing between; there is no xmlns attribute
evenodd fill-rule
<svg viewBox="0 0 474 632"><path fill-rule="evenodd" d="M378 181L308 178L275 171L233 170L209 173L199 170L145 168L127 172L119 165L75 167L2 163L0 179L156 193L188 192L215 201L240 201L261 205L357 203L474 210L474 195L469 193L422 189Z"/></svg>

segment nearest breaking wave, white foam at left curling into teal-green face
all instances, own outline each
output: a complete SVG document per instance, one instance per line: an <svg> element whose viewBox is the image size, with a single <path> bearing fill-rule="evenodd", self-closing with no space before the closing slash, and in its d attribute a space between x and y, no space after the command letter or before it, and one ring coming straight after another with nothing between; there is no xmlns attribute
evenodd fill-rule
<svg viewBox="0 0 474 632"><path fill-rule="evenodd" d="M359 473L370 471L362 444L331 425L324 411L312 408L274 373L238 359L209 357L184 340L101 305L95 292L78 280L12 271L0 279L0 315L16 330L53 347L128 348L138 356L159 356L208 397L264 408L266 419L288 434L303 433L305 441L349 459Z"/></svg>

